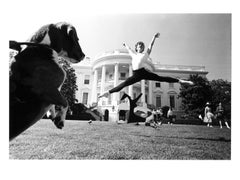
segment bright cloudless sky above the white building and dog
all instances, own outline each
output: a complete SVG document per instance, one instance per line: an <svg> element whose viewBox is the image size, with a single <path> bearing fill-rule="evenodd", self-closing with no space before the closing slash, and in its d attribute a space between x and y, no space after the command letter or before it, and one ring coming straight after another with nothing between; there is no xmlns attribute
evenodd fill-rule
<svg viewBox="0 0 240 180"><path fill-rule="evenodd" d="M152 36L160 32L151 54L154 61L205 66L210 80L231 81L230 14L66 14L18 21L10 28L10 39L24 41L42 25L59 21L76 27L80 45L90 58L123 48L123 42L134 47L141 40L148 47Z"/></svg>

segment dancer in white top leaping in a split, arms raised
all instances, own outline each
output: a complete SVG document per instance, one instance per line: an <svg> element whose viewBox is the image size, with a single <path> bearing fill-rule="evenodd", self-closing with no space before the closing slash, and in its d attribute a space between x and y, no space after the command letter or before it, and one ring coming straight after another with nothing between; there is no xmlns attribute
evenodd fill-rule
<svg viewBox="0 0 240 180"><path fill-rule="evenodd" d="M133 75L127 78L124 82L120 83L118 86L110 89L109 91L104 92L101 94L98 98L101 97L108 97L111 93L119 92L121 89L123 89L126 86L130 86L138 81L141 80L152 80L152 81L159 81L159 82L168 82L168 83L180 83L180 84L190 84L193 85L192 81L186 81L183 79L173 78L173 77L167 77L167 76L159 76L157 74L152 73L150 70L147 69L146 63L148 61L148 58L151 54L153 44L156 40L156 38L159 38L160 33L156 33L153 36L153 39L147 49L147 51L144 53L145 45L143 42L139 41L135 45L135 51L132 50L128 45L125 43L123 46L128 50L130 56L132 57L132 69L133 69Z"/></svg>

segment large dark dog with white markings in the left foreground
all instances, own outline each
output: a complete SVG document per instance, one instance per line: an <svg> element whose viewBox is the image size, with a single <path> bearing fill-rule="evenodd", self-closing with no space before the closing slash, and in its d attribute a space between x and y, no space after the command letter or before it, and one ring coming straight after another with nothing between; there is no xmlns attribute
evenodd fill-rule
<svg viewBox="0 0 240 180"><path fill-rule="evenodd" d="M59 90L66 75L58 56L71 62L85 56L75 28L67 23L46 25L30 41L10 41L10 48L20 51L10 65L10 140L41 119L53 104L61 106L54 123L64 126L68 103Z"/></svg>

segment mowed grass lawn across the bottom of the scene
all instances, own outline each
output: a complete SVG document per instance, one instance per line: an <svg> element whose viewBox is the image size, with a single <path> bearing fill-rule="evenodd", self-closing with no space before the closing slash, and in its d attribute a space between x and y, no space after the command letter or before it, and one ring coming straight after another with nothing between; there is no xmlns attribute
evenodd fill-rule
<svg viewBox="0 0 240 180"><path fill-rule="evenodd" d="M231 159L231 130L197 125L41 120L9 143L10 159Z"/></svg>

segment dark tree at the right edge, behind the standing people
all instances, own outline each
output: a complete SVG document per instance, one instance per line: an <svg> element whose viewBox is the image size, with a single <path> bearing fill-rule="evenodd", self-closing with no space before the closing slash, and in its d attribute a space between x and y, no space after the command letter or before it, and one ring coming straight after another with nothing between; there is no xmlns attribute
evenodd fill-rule
<svg viewBox="0 0 240 180"><path fill-rule="evenodd" d="M212 80L210 85L214 92L212 97L212 105L214 106L214 110L219 102L221 102L225 109L224 115L228 119L231 119L231 82L218 79Z"/></svg>

